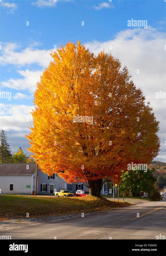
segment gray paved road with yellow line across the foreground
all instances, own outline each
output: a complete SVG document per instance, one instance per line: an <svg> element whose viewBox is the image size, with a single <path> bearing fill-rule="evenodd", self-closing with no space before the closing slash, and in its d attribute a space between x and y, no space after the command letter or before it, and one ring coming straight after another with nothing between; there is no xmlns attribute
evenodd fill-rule
<svg viewBox="0 0 166 256"><path fill-rule="evenodd" d="M155 239L160 234L166 236L162 201L0 226L0 235L12 239Z"/></svg>

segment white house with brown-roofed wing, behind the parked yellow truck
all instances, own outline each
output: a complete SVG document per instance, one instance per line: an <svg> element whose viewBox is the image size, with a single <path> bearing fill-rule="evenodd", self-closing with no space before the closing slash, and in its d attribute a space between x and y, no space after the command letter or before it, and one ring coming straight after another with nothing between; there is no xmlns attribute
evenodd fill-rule
<svg viewBox="0 0 166 256"><path fill-rule="evenodd" d="M0 164L0 189L3 194L27 194L35 192L36 163L5 163ZM82 183L69 184L56 173L48 176L38 168L37 194L54 194L54 190L77 189L87 190Z"/></svg>

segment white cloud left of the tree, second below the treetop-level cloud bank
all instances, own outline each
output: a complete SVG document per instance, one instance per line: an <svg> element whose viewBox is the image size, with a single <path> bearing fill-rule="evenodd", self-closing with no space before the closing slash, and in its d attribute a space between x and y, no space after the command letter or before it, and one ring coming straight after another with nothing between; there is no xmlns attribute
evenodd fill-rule
<svg viewBox="0 0 166 256"><path fill-rule="evenodd" d="M40 76L42 71L28 71L28 70L19 70L19 74L24 78L21 79L8 79L7 81L1 82L1 85L4 87L16 89L16 90L28 90L29 92L34 92L35 85L37 81L40 81Z"/></svg>

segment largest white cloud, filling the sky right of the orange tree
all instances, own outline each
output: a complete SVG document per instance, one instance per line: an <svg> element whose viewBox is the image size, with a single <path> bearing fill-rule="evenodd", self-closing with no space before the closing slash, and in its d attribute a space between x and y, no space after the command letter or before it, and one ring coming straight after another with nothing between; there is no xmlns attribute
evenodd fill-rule
<svg viewBox="0 0 166 256"><path fill-rule="evenodd" d="M123 65L126 65L132 75L132 80L137 88L140 87L150 101L155 116L160 122L159 136L161 140L160 156L165 157L165 120L166 100L156 99L155 92L165 92L165 35L157 29L148 26L147 29L127 29L119 32L113 40L85 43L91 52L98 54L100 51L110 52L117 56ZM133 99L134 100L134 99ZM161 160L161 157L157 159Z"/></svg>

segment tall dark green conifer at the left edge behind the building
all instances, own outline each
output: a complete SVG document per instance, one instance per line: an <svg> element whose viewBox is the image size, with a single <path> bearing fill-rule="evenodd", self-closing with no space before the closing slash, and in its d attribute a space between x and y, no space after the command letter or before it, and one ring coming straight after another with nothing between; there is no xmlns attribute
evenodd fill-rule
<svg viewBox="0 0 166 256"><path fill-rule="evenodd" d="M7 143L7 136L4 130L0 133L0 163L12 162L11 149Z"/></svg>

